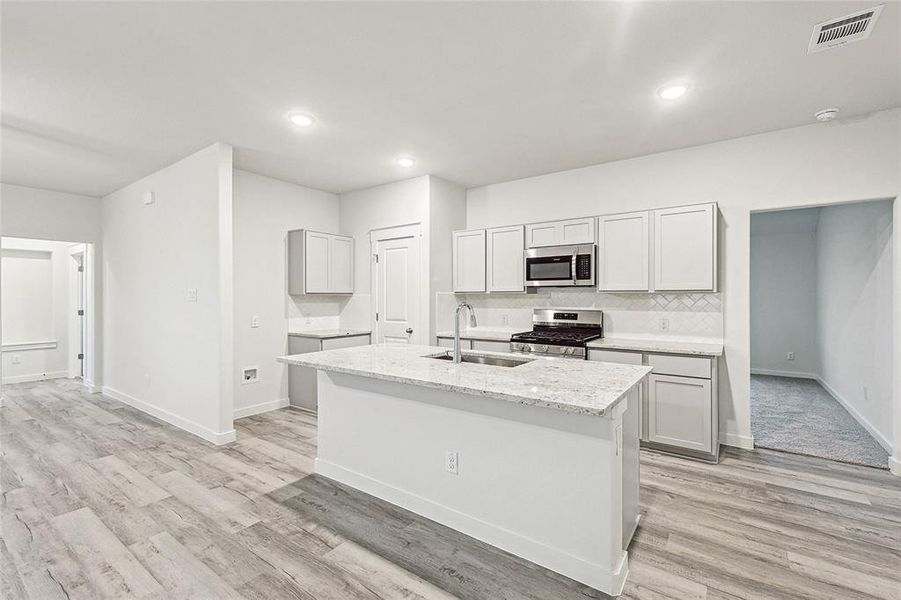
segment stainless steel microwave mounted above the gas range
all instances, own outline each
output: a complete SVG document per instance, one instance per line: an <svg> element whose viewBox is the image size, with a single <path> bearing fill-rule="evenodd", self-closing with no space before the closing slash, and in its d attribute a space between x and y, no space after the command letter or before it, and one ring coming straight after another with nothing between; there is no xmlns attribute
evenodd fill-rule
<svg viewBox="0 0 901 600"><path fill-rule="evenodd" d="M597 246L546 246L529 248L525 253L526 285L593 286Z"/></svg>

